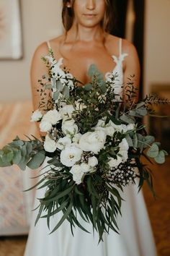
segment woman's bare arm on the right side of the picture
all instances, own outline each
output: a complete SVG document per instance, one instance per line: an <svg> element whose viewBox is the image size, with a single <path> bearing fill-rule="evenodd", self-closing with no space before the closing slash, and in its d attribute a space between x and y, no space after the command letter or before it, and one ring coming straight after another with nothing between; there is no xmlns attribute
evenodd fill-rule
<svg viewBox="0 0 170 256"><path fill-rule="evenodd" d="M134 87L139 88L140 83L140 62L138 58L138 53L135 46L128 40L123 40L123 52L127 53L128 56L125 57L125 72L124 72L124 84L127 85L130 80L128 77L135 75L133 77ZM137 97L135 101L138 101L138 90L136 91Z"/></svg>

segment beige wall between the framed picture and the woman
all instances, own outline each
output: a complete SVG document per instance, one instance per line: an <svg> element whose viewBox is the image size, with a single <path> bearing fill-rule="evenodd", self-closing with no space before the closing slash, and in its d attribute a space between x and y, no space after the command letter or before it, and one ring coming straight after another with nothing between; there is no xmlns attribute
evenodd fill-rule
<svg viewBox="0 0 170 256"><path fill-rule="evenodd" d="M0 103L27 100L30 92L30 62L35 48L62 33L61 0L21 0L24 58L0 60Z"/></svg>

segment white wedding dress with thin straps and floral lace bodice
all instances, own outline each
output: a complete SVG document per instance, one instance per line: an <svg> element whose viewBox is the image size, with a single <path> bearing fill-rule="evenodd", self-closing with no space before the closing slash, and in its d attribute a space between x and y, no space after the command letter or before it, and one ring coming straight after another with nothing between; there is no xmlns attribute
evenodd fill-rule
<svg viewBox="0 0 170 256"><path fill-rule="evenodd" d="M120 39L120 56L112 56L116 67L112 71L117 72L117 93L121 93L123 82L122 61L128 54L122 54L122 40ZM60 65L62 59L58 60L58 69L62 72ZM109 79L110 73L106 74ZM44 170L43 170L44 171ZM37 198L43 197L45 189L37 189L35 194L34 208L39 205ZM71 234L70 223L66 220L53 234L49 234L53 227L61 219L62 213L58 213L50 219L50 231L45 218L40 218L35 226L37 210L32 212L30 233L24 256L156 256L156 247L151 231L151 224L143 200L143 193L138 193L138 184L125 187L122 197L122 217L118 216L117 223L120 234L110 229L109 235L104 234L103 242L95 231L93 235L90 223L86 223L78 215L79 222L91 234L79 227L73 229Z"/></svg>

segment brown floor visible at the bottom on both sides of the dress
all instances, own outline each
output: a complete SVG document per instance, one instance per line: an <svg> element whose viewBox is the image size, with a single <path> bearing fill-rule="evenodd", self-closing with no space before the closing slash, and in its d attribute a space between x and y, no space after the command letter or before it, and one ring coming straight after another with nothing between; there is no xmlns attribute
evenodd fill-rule
<svg viewBox="0 0 170 256"><path fill-rule="evenodd" d="M170 256L170 158L164 166L153 166L155 189L158 198L153 199L145 185L143 188L148 213L151 218L158 256ZM0 256L23 256L27 236L1 237ZM32 255L30 255L32 256ZM68 255L69 256L69 255ZM143 255L151 256L151 255Z"/></svg>

